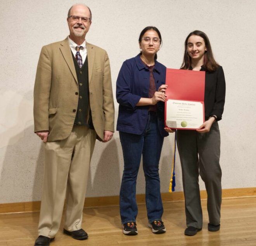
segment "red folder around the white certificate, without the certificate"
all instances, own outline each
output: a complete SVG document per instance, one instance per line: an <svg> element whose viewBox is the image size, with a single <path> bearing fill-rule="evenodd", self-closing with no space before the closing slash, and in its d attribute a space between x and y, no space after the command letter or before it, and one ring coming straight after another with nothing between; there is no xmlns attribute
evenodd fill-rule
<svg viewBox="0 0 256 246"><path fill-rule="evenodd" d="M204 109L205 72L182 69L166 69L166 84L168 89L165 94L168 99L201 102ZM165 126L167 101L165 102ZM204 110L203 110L204 120ZM175 128L194 130L195 128Z"/></svg>

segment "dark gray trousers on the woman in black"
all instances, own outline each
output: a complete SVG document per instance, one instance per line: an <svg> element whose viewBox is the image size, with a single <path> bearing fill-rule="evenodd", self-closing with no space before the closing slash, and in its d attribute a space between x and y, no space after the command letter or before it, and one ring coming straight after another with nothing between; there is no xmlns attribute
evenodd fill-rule
<svg viewBox="0 0 256 246"><path fill-rule="evenodd" d="M202 228L199 174L206 186L209 223L220 224L221 168L218 123L214 122L208 133L177 130L177 146L182 166L187 226Z"/></svg>

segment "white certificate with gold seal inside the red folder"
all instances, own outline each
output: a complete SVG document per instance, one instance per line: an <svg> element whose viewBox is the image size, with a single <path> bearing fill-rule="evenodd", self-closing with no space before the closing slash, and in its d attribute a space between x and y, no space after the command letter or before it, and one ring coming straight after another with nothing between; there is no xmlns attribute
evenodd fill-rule
<svg viewBox="0 0 256 246"><path fill-rule="evenodd" d="M202 102L169 99L166 107L166 126L169 128L197 129L204 123Z"/></svg>

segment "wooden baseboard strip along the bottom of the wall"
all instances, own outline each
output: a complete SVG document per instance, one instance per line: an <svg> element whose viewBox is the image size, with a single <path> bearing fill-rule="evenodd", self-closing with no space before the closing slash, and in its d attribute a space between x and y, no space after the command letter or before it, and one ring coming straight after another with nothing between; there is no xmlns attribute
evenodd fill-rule
<svg viewBox="0 0 256 246"><path fill-rule="evenodd" d="M200 191L201 199L207 198L205 190ZM172 193L162 193L163 202L175 202L184 200L183 191ZM250 188L235 188L222 190L222 198L241 198L256 196L256 187ZM145 203L145 194L138 194L136 196L137 203ZM25 213L36 212L40 210L40 201L36 202L17 202L17 203L2 203L0 204L0 214L6 213ZM119 196L100 196L100 197L87 197L85 199L85 208L89 207L104 207L104 206L117 206L119 205Z"/></svg>

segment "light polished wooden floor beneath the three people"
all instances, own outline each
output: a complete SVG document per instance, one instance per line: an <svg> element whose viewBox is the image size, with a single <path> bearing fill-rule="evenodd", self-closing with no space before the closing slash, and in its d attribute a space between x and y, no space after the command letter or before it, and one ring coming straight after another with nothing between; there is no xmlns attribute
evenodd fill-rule
<svg viewBox="0 0 256 246"><path fill-rule="evenodd" d="M75 245L256 245L256 198L223 200L221 229L208 232L206 201L202 201L204 224L195 236L185 236L183 202L164 203L163 221L166 233L153 234L147 227L145 205L139 205L137 236L122 234L118 207L86 208L83 212L83 228L88 240L78 241L59 230L51 246ZM0 246L34 245L37 237L39 213L0 215ZM62 226L61 226L62 228Z"/></svg>

